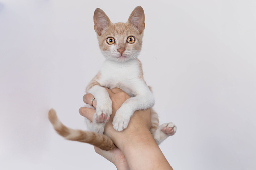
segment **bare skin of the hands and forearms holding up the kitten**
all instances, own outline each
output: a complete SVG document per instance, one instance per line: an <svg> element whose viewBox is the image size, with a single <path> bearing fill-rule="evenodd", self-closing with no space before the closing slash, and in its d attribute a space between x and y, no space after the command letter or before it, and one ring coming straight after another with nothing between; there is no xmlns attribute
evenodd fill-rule
<svg viewBox="0 0 256 170"><path fill-rule="evenodd" d="M96 153L105 157L120 170L172 169L149 131L151 127L150 109L136 111L131 117L127 129L118 132L113 128L113 117L130 96L119 88L112 90L106 88L106 90L112 100L113 112L109 122L106 123L104 134L109 136L118 148L111 151L103 151L95 147ZM92 98L92 94L86 94L83 100L85 103L90 104ZM97 100L95 99L93 107L96 107L96 105ZM95 110L82 107L79 109L79 113L92 121ZM105 117L100 116L99 120L105 120Z"/></svg>

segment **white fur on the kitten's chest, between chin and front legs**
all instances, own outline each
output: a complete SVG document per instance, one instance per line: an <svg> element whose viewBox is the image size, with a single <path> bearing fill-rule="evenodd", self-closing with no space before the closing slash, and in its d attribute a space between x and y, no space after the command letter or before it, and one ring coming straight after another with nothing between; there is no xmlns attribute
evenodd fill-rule
<svg viewBox="0 0 256 170"><path fill-rule="evenodd" d="M137 60L130 60L124 63L106 60L101 69L100 85L110 89L118 87L130 96L135 96L136 85L143 81L139 76L141 73L140 64Z"/></svg>

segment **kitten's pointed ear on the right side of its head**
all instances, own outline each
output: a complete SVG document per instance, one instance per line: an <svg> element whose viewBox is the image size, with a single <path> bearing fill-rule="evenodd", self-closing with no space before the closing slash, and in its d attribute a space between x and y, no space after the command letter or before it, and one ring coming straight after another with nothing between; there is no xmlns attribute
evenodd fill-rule
<svg viewBox="0 0 256 170"><path fill-rule="evenodd" d="M137 6L131 13L128 22L139 30L141 34L145 29L145 14L141 6Z"/></svg>

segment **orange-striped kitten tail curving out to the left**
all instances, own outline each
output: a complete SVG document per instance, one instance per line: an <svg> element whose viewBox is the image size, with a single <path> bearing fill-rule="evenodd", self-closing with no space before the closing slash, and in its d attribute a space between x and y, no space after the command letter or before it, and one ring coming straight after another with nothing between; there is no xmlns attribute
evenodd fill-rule
<svg viewBox="0 0 256 170"><path fill-rule="evenodd" d="M112 150L116 147L112 140L104 134L91 131L75 130L66 127L60 122L54 109L49 111L48 118L57 133L67 140L89 143L106 151Z"/></svg>

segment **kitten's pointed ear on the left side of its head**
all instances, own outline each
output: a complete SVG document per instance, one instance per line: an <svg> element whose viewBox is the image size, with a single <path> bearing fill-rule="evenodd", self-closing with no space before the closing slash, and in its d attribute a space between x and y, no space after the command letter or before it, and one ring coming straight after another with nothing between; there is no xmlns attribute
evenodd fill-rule
<svg viewBox="0 0 256 170"><path fill-rule="evenodd" d="M101 36L102 31L111 24L110 19L100 8L95 9L94 11L94 30L96 33Z"/></svg>

